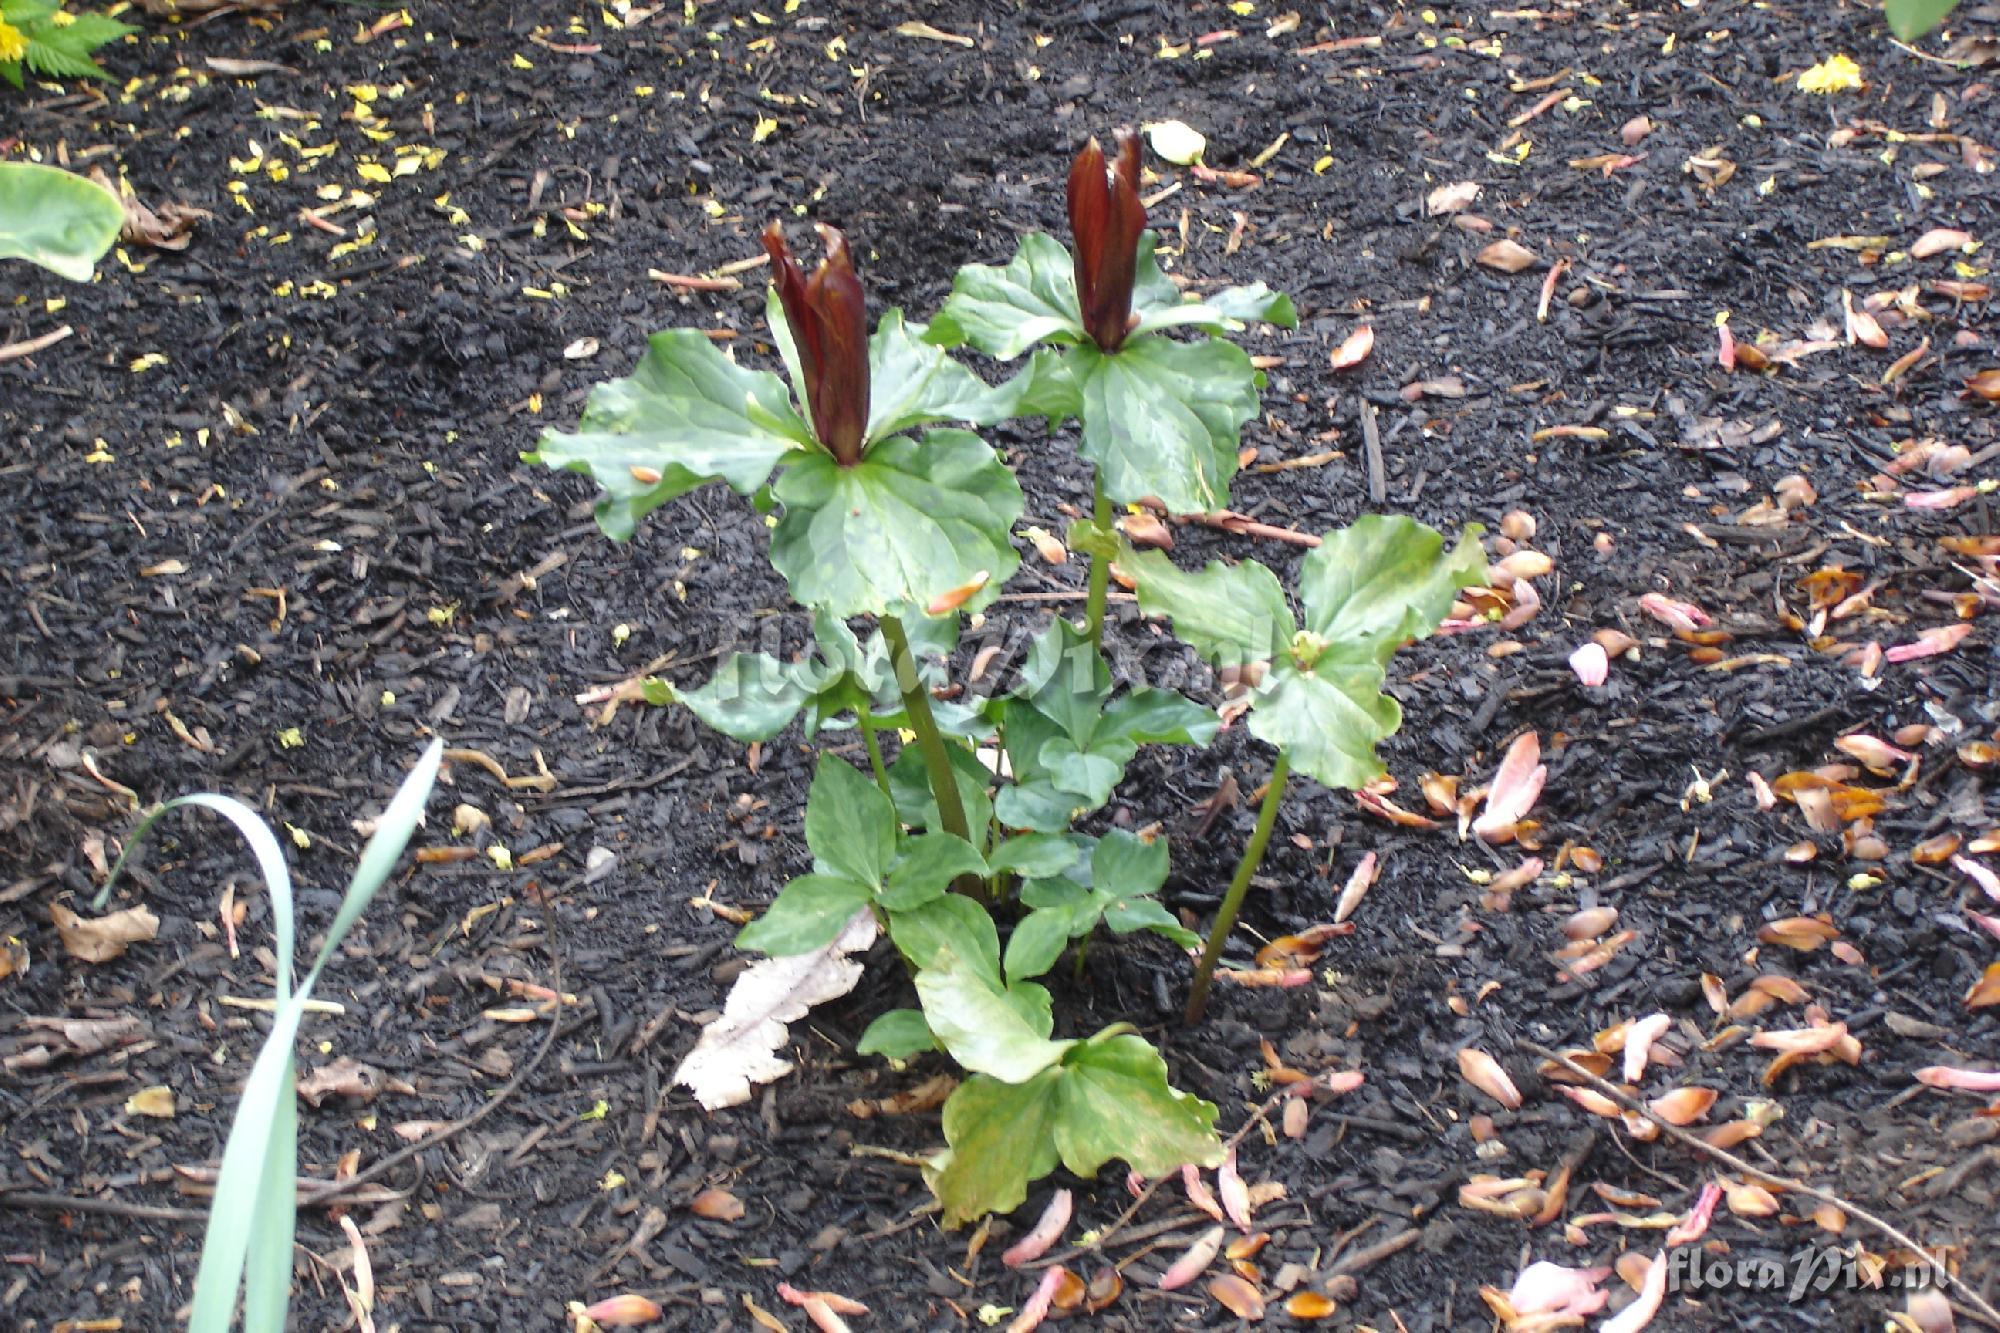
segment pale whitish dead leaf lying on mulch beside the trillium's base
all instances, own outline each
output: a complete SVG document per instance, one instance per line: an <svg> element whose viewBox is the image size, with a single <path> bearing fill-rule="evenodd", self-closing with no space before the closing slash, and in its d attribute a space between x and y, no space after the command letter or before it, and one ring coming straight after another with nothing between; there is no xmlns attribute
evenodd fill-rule
<svg viewBox="0 0 2000 1333"><path fill-rule="evenodd" d="M778 1047L790 1037L786 1025L852 991L862 965L848 955L874 941L874 913L862 909L832 943L812 953L752 963L730 989L722 1017L702 1029L680 1061L674 1083L692 1089L704 1109L720 1111L750 1101L754 1085L792 1073L792 1063L778 1059Z"/></svg>

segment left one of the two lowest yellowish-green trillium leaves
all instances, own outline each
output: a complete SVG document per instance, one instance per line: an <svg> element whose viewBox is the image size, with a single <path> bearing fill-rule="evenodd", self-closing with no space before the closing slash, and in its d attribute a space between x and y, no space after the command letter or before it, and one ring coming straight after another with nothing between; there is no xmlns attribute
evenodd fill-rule
<svg viewBox="0 0 2000 1333"><path fill-rule="evenodd" d="M952 1147L928 1173L944 1205L944 1225L958 1227L986 1213L1012 1213L1028 1199L1028 1183L1056 1169L1056 1085L1042 1071L1028 1083L974 1075L944 1103L944 1141Z"/></svg>

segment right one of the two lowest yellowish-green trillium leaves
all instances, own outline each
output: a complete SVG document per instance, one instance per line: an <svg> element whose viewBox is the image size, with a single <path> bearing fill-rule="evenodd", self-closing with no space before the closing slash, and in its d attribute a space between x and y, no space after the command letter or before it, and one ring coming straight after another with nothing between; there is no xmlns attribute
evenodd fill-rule
<svg viewBox="0 0 2000 1333"><path fill-rule="evenodd" d="M1142 1037L1076 1043L1062 1061L1050 1127L1062 1165L1082 1177L1114 1157L1146 1177L1222 1161L1214 1105L1170 1087L1166 1061Z"/></svg>

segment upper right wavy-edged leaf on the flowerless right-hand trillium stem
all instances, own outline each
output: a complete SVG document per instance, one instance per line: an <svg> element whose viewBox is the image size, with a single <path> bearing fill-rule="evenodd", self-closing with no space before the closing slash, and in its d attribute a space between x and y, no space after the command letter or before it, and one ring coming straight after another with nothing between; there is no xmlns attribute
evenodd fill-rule
<svg viewBox="0 0 2000 1333"><path fill-rule="evenodd" d="M1486 582L1480 526L1458 546L1414 518L1362 514L1328 532L1298 572L1304 628L1326 656L1386 664L1404 642L1426 638L1452 608L1458 588Z"/></svg>

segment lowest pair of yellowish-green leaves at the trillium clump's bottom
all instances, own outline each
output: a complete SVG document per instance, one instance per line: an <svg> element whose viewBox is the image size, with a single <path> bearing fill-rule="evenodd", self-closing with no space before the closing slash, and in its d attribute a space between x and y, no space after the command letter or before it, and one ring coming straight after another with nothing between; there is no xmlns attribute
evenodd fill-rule
<svg viewBox="0 0 2000 1333"><path fill-rule="evenodd" d="M1082 1177L1114 1157L1148 1177L1222 1161L1216 1109L1168 1085L1166 1061L1132 1035L1076 1043L1026 1083L966 1079L944 1103L944 1141L928 1175L948 1227L1020 1207L1058 1161Z"/></svg>

